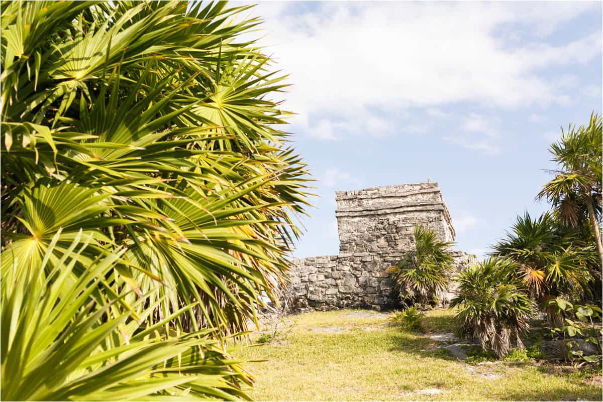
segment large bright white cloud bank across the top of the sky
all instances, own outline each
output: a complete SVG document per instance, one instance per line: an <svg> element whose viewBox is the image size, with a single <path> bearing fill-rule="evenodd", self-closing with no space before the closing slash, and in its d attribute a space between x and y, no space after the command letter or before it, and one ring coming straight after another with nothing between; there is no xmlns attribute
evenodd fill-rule
<svg viewBox="0 0 603 402"><path fill-rule="evenodd" d="M540 70L597 57L601 32L555 45L543 38L593 5L263 2L252 14L264 17L260 43L273 45L267 52L290 75L286 108L298 113L295 130L336 140L396 132L376 110L420 107L437 116L438 107L459 102L490 108L570 102L572 78ZM532 37L509 43L496 33L505 24L523 26ZM493 152L496 144L482 140L472 148Z"/></svg>

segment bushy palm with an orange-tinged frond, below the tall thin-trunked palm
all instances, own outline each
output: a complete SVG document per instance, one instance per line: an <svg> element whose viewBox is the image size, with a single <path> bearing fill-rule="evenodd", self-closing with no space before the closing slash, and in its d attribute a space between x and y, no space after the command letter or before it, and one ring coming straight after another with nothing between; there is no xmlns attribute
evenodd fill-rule
<svg viewBox="0 0 603 402"><path fill-rule="evenodd" d="M548 308L548 300L558 296L575 300L589 294L595 247L585 244L576 230L564 227L548 212L536 219L528 212L518 216L507 237L492 248L492 255L516 264L510 274L525 283L550 320L558 317Z"/></svg>

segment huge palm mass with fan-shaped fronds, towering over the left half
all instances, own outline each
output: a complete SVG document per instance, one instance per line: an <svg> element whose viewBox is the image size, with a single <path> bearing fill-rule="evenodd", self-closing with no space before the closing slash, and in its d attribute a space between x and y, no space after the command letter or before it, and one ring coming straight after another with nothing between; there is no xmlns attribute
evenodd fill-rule
<svg viewBox="0 0 603 402"><path fill-rule="evenodd" d="M2 284L32 272L52 285L65 258L75 283L118 253L96 273L93 303L134 332L197 339L178 343L180 356L203 337L223 348L256 320L260 296L277 301L308 205L306 165L279 129L286 76L242 39L260 21L226 2L1 6ZM75 253L78 236L90 241ZM127 344L119 329L111 339ZM239 390L247 377L233 370L221 373ZM200 384L194 396L216 396L195 394Z"/></svg>

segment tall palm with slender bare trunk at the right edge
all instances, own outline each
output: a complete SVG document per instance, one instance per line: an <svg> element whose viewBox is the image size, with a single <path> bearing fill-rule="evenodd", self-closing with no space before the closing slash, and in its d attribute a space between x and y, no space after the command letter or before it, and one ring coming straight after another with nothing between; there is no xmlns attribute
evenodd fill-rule
<svg viewBox="0 0 603 402"><path fill-rule="evenodd" d="M603 163L603 120L593 113L588 126L569 126L561 131L561 140L551 145L553 161L560 165L555 178L543 185L537 199L552 203L564 224L578 227L588 216L599 253L601 243L601 177Z"/></svg>

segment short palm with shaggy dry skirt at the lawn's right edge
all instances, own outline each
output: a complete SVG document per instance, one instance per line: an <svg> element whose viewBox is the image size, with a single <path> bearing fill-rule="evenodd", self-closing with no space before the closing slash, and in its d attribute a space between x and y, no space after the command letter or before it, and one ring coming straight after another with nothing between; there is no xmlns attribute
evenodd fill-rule
<svg viewBox="0 0 603 402"><path fill-rule="evenodd" d="M514 343L522 348L520 334L528 329L534 303L522 282L508 273L516 270L508 259L489 258L459 273L458 295L450 308L456 314L459 334L478 339L484 351L504 357Z"/></svg>

